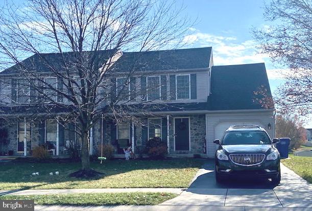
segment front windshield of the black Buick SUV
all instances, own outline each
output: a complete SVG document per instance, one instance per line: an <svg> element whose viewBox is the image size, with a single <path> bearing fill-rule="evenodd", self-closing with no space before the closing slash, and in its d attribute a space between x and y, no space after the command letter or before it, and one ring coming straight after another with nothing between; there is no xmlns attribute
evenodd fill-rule
<svg viewBox="0 0 312 211"><path fill-rule="evenodd" d="M226 132L222 140L222 145L236 144L271 144L271 140L264 131Z"/></svg>

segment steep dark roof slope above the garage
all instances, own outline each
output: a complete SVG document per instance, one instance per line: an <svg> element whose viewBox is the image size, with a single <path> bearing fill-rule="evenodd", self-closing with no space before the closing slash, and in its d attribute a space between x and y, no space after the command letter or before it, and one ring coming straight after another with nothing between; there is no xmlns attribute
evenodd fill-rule
<svg viewBox="0 0 312 211"><path fill-rule="evenodd" d="M208 110L264 109L255 100L261 86L272 97L264 63L212 66Z"/></svg>

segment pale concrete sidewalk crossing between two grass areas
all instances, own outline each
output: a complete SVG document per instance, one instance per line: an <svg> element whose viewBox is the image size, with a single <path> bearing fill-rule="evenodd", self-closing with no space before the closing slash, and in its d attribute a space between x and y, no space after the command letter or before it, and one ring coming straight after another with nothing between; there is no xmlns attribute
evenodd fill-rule
<svg viewBox="0 0 312 211"><path fill-rule="evenodd" d="M79 193L130 193L153 192L181 194L185 189L179 188L105 188L105 189L38 189L0 191L1 195L49 195L49 194L79 194Z"/></svg>

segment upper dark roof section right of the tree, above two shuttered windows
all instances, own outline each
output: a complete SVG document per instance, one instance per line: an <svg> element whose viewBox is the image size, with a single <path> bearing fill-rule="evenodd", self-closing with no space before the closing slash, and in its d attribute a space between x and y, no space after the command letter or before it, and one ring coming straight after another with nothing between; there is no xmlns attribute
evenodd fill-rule
<svg viewBox="0 0 312 211"><path fill-rule="evenodd" d="M210 65L211 47L144 52L123 52L113 65L115 72L179 70L207 68Z"/></svg>

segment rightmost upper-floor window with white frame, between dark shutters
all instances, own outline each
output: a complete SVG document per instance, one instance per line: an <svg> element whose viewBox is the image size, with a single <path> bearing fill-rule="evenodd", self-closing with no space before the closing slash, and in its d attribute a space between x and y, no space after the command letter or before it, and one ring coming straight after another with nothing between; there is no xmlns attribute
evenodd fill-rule
<svg viewBox="0 0 312 211"><path fill-rule="evenodd" d="M190 97L190 75L177 75L176 76L176 92L177 99L189 99Z"/></svg>

